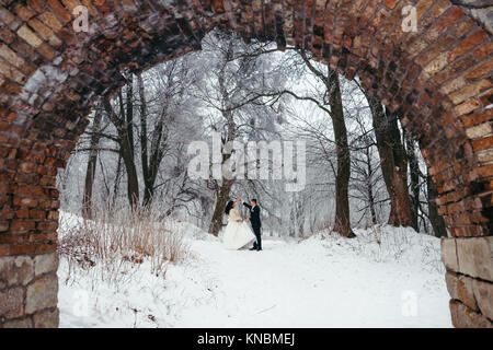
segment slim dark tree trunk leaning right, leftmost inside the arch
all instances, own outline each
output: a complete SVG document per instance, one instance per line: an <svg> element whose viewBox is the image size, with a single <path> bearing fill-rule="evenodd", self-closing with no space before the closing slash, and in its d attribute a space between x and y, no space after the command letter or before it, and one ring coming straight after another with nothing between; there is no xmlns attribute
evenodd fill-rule
<svg viewBox="0 0 493 350"><path fill-rule="evenodd" d="M98 145L101 136L98 135L101 128L102 113L96 106L94 121L92 125L91 143L89 151L88 167L85 170L84 194L82 196L82 217L84 219L92 219L92 188L94 186L94 176L98 165Z"/></svg>

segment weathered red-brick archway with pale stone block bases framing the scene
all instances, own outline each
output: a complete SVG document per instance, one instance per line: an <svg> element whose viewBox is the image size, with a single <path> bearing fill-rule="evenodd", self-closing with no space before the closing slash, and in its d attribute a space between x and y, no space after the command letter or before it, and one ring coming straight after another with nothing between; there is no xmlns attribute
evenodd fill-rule
<svg viewBox="0 0 493 350"><path fill-rule="evenodd" d="M452 4L467 2L467 7ZM493 42L481 1L0 1L0 326L57 326L56 174L98 95L215 26L311 50L419 139L437 185L456 326L493 319ZM73 10L89 11L88 33ZM414 5L417 32L403 32ZM77 12L76 12L77 13Z"/></svg>

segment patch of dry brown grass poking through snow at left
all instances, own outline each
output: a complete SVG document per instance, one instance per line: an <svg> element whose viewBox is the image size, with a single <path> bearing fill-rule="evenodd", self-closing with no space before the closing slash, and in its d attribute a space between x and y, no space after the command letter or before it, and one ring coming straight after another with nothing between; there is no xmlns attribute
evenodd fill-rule
<svg viewBox="0 0 493 350"><path fill-rule="evenodd" d="M131 267L148 262L150 272L165 276L168 264L186 258L188 248L183 232L171 222L156 221L157 215L124 210L100 210L91 220L62 219L59 252L74 269L92 270L95 278L119 282L128 279Z"/></svg>

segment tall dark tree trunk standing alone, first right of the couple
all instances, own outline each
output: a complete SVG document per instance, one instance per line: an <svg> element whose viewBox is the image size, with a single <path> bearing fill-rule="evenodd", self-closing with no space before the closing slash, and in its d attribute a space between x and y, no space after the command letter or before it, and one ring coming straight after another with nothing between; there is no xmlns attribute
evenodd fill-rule
<svg viewBox="0 0 493 350"><path fill-rule="evenodd" d="M351 177L349 145L344 121L341 88L337 72L329 69L330 105L332 125L337 155L337 174L335 176L335 224L334 231L344 237L355 237L351 229L348 187Z"/></svg>

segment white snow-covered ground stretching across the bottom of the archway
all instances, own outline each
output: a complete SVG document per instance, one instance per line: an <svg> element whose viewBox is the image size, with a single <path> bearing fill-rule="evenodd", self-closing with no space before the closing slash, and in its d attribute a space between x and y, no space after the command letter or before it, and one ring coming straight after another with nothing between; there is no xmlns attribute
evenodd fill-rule
<svg viewBox="0 0 493 350"><path fill-rule="evenodd" d="M104 282L61 258L60 326L451 327L435 237L385 226L229 252L186 230L190 258L165 277L144 260Z"/></svg>

